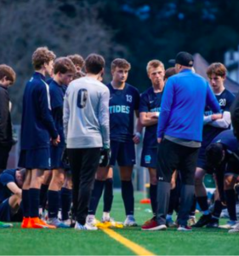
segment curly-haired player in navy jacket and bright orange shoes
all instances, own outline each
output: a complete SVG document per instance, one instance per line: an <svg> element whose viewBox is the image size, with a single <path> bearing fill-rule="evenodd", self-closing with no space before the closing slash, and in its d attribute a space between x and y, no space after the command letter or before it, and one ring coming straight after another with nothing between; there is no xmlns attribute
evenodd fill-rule
<svg viewBox="0 0 239 256"><path fill-rule="evenodd" d="M32 55L35 69L27 82L23 96L21 145L19 166L26 168L22 187L24 219L22 228L55 228L39 218L39 195L44 170L50 169L50 139L60 143L51 113L50 96L45 75L54 67L55 55L47 47L40 47Z"/></svg>

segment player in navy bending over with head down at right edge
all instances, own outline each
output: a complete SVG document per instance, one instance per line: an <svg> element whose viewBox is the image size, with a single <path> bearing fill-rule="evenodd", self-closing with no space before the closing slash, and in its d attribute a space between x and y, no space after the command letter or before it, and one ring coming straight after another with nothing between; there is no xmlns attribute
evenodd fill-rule
<svg viewBox="0 0 239 256"><path fill-rule="evenodd" d="M220 199L225 201L230 217L227 224L219 227L230 229L236 225L237 220L234 185L236 184L236 177L239 175L238 142L233 135L233 131L222 131L213 139L206 149L206 160L217 177ZM218 227L219 218L214 214L212 215L213 227ZM212 223L212 220L210 223Z"/></svg>

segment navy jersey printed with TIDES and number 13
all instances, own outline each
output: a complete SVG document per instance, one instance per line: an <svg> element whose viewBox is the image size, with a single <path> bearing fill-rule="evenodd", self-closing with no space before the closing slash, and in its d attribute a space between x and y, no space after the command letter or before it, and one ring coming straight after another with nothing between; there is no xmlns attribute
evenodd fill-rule
<svg viewBox="0 0 239 256"><path fill-rule="evenodd" d="M129 142L134 136L134 110L139 110L139 90L125 84L123 90L110 90L110 130L111 141Z"/></svg>

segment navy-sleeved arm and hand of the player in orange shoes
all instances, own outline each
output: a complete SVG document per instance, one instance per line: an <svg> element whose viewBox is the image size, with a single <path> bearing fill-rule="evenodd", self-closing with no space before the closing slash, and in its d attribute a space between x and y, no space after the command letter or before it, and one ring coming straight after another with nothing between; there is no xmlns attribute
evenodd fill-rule
<svg viewBox="0 0 239 256"><path fill-rule="evenodd" d="M41 111L41 118L43 120L44 125L47 127L50 137L53 139L54 143L60 142L59 134L54 125L54 119L52 117L52 113L50 111L50 106L48 102L48 91L45 87L41 86L38 90L38 101Z"/></svg>

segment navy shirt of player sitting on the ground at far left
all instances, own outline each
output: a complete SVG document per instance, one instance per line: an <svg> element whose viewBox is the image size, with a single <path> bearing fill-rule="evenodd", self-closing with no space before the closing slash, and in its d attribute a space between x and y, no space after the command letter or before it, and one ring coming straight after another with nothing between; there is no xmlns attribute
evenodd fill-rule
<svg viewBox="0 0 239 256"><path fill-rule="evenodd" d="M7 187L8 183L16 183L15 175L17 169L5 170L0 175L0 203L9 198L13 193Z"/></svg>

